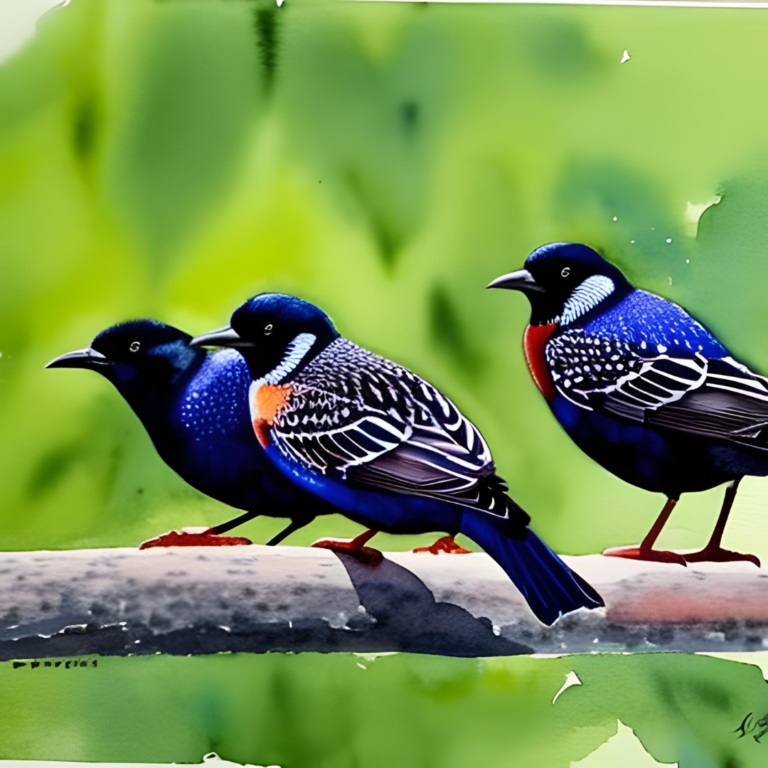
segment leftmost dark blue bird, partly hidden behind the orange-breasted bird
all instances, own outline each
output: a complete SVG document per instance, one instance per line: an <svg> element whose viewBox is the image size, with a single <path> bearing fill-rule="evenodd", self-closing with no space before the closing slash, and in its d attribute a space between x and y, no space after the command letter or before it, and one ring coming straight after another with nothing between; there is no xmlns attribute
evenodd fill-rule
<svg viewBox="0 0 768 768"><path fill-rule="evenodd" d="M208 496L245 510L202 533L171 532L148 546L249 544L220 534L258 515L291 523L277 544L330 505L289 482L254 438L248 412L251 377L232 350L208 353L192 337L154 320L136 320L99 333L90 347L52 360L47 368L85 368L112 382L147 430L161 458Z"/></svg>

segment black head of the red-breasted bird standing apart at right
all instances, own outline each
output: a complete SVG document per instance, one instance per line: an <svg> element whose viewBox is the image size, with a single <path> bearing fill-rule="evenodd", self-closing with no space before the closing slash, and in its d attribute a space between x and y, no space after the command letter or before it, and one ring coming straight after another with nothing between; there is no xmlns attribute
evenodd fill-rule
<svg viewBox="0 0 768 768"><path fill-rule="evenodd" d="M531 302L531 325L568 325L603 312L633 288L597 251L579 243L537 248L525 268L494 280L488 288L521 291Z"/></svg>

